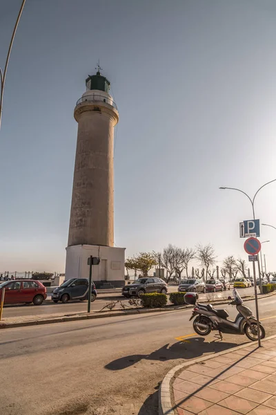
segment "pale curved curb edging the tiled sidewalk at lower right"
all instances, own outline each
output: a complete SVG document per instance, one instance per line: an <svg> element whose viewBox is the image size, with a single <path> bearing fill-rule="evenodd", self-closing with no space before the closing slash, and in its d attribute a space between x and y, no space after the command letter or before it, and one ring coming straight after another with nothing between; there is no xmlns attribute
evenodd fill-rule
<svg viewBox="0 0 276 415"><path fill-rule="evenodd" d="M270 335L270 337L265 338L262 340L262 342L266 342L267 340L276 338L275 335ZM223 356L224 354L227 354L229 352L233 352L239 349L244 349L245 347L248 347L248 344L251 344L252 342L246 342L246 344L242 344L242 346L233 347L232 349L227 349L224 351L219 351L218 353L212 353L211 355L204 356L202 358L197 358L194 360L189 360L188 362L181 363L181 365L177 365L170 369L168 371L168 374L166 374L165 378L162 380L161 385L159 387L159 415L176 415L177 412L174 409L175 402L172 399L171 393L170 393L170 386L172 383L172 380L175 379L177 372L182 371L185 367L189 367L192 365L195 365L195 363L199 362L205 362L206 360L213 359L215 356Z"/></svg>

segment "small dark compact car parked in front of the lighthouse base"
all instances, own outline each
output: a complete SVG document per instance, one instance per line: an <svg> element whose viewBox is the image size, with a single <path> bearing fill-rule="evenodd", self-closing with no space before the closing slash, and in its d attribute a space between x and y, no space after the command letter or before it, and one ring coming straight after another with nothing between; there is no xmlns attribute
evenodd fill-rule
<svg viewBox="0 0 276 415"><path fill-rule="evenodd" d="M63 282L61 286L55 288L52 292L52 301L56 303L59 301L66 303L70 299L84 301L88 299L88 284L88 279L86 278L67 279L67 281ZM96 297L97 291L94 282L92 282L91 301L95 301Z"/></svg>

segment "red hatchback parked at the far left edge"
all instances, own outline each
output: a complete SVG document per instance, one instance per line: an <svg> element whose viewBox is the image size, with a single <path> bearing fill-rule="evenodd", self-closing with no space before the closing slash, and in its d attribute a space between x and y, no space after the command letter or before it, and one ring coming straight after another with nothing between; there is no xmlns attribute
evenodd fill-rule
<svg viewBox="0 0 276 415"><path fill-rule="evenodd" d="M4 304L34 303L35 306L40 306L47 298L46 287L34 279L2 282L0 284L0 299L3 287L5 287Z"/></svg>

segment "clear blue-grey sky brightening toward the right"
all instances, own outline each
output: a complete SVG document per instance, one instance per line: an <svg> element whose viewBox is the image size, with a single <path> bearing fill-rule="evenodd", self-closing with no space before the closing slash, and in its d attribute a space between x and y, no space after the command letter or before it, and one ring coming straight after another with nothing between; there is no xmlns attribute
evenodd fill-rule
<svg viewBox="0 0 276 415"><path fill-rule="evenodd" d="M0 2L3 66L21 0ZM77 122L97 60L119 108L115 243L241 255L276 178L275 0L27 0L0 131L0 271L64 272ZM276 182L256 198L276 226ZM263 228L269 270L276 230Z"/></svg>

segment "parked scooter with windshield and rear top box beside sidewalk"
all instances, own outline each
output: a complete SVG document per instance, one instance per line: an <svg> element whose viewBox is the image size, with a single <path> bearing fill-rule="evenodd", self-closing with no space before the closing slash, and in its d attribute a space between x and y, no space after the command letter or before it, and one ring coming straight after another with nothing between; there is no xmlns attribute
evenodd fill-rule
<svg viewBox="0 0 276 415"><path fill-rule="evenodd" d="M187 296L187 297L186 297ZM219 336L222 340L221 333L228 334L242 334L246 335L249 340L258 340L257 319L253 316L250 308L244 306L242 298L237 293L237 290L233 290L234 299L228 297L231 302L228 305L236 306L238 314L235 321L228 320L229 314L224 309L217 309L212 304L200 304L196 302L196 297L193 297L193 293L187 293L184 298L188 304L194 304L193 314L190 320L193 321L193 329L195 333L199 335L208 335L211 331L219 331ZM189 321L190 321L189 320ZM266 335L264 326L259 322L260 337L263 339Z"/></svg>

